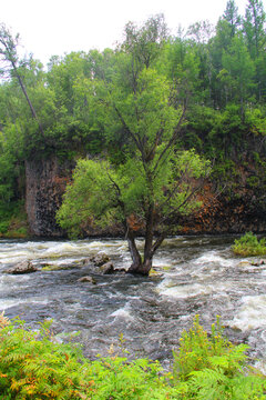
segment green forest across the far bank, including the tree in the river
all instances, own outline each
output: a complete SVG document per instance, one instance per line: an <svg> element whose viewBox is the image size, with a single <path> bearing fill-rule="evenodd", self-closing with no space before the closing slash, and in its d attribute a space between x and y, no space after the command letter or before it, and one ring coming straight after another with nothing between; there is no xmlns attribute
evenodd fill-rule
<svg viewBox="0 0 266 400"><path fill-rule="evenodd" d="M76 166L61 227L79 236L84 221L120 221L143 273L174 214L198 207L206 179L264 212L265 21L259 0L244 16L229 0L215 27L175 34L157 14L129 22L115 49L54 56L47 68L20 58L19 36L1 24L1 233L23 209L25 162L52 157ZM145 230L144 261L135 226Z"/></svg>

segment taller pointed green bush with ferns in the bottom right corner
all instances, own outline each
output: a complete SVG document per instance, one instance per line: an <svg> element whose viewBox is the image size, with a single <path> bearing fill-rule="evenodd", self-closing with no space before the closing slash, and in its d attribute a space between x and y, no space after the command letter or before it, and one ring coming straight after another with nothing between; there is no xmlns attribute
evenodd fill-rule
<svg viewBox="0 0 266 400"><path fill-rule="evenodd" d="M234 346L223 337L219 317L208 336L195 317L174 351L174 381L186 391L184 399L265 399L265 379L248 371L246 344Z"/></svg>

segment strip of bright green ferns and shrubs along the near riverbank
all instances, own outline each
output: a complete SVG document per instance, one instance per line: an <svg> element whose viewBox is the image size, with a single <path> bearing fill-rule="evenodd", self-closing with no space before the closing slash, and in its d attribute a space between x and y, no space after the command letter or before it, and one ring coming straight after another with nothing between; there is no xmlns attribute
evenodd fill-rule
<svg viewBox="0 0 266 400"><path fill-rule="evenodd" d="M79 346L58 343L51 322L35 331L2 313L1 399L266 399L266 379L248 367L248 347L223 336L219 317L209 334L195 317L167 372L157 361L129 361L122 336L120 348L121 354L111 346L108 358L90 361Z"/></svg>

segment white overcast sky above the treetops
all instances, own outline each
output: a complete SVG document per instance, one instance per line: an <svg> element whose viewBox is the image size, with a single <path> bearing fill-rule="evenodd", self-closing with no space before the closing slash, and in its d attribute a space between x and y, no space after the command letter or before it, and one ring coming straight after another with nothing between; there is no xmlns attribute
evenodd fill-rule
<svg viewBox="0 0 266 400"><path fill-rule="evenodd" d="M264 0L266 1L266 0ZM247 0L235 1L244 14ZM126 22L164 13L172 33L181 24L216 23L227 0L1 0L0 22L20 33L24 53L44 64L51 56L114 48Z"/></svg>

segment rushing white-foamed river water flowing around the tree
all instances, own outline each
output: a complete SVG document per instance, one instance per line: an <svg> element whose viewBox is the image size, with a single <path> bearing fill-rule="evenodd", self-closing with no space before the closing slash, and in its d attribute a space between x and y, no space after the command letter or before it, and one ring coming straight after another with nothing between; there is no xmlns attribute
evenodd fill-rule
<svg viewBox="0 0 266 400"><path fill-rule="evenodd" d="M250 346L264 359L266 348L266 266L252 267L231 251L234 238L177 237L158 250L158 277L100 276L81 261L105 252L119 268L130 266L123 240L0 241L0 311L35 326L53 319L52 329L80 331L89 357L106 354L123 333L133 357L158 359L167 366L172 349L195 314L209 329L222 317L231 340ZM141 242L140 242L141 243ZM21 260L64 269L23 276L2 273ZM71 268L66 268L70 266ZM78 282L93 276L96 284ZM260 367L263 368L264 360Z"/></svg>

